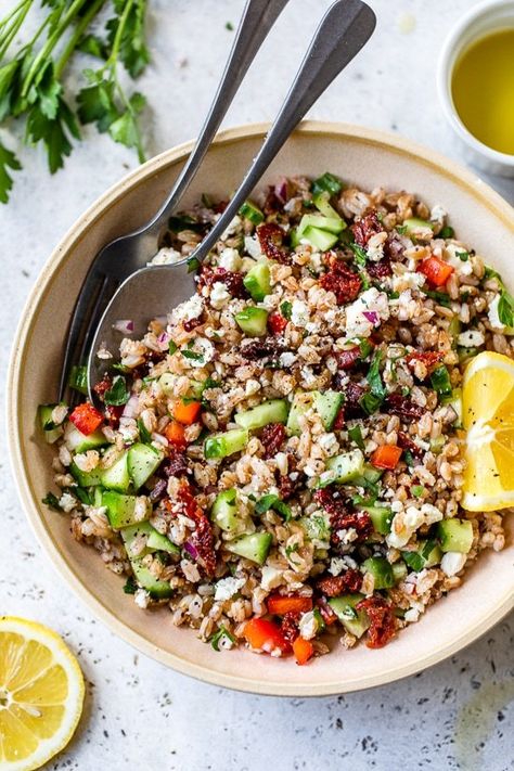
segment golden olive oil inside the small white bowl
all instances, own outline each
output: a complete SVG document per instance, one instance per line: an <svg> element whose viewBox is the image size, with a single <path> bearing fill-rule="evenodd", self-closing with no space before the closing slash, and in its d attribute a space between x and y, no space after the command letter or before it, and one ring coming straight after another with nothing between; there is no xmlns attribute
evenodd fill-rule
<svg viewBox="0 0 514 771"><path fill-rule="evenodd" d="M477 40L458 60L453 104L480 142L514 155L514 28Z"/></svg>

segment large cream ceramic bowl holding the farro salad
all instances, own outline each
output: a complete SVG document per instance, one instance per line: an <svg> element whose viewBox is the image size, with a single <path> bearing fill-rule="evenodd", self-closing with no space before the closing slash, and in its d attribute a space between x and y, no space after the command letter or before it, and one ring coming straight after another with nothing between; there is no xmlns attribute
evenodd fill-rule
<svg viewBox="0 0 514 771"><path fill-rule="evenodd" d="M188 196L203 191L223 196L233 190L255 156L266 126L220 134ZM387 683L440 661L470 644L513 606L512 545L485 553L462 588L378 651L359 645L336 650L306 667L246 651L217 653L194 632L171 624L169 611L140 611L121 591L123 579L106 570L98 554L76 543L66 516L40 503L52 488L52 451L36 436L40 402L55 398L66 326L86 271L99 248L142 224L156 210L191 145L163 153L112 188L76 222L50 257L22 317L8 383L9 434L14 477L37 537L64 580L114 632L174 669L242 691L313 696ZM450 211L459 235L514 285L514 216L480 180L435 153L394 136L320 123L304 124L268 171L318 176L333 171L371 189L406 189L428 205ZM185 202L188 203L188 201ZM149 297L149 313L152 298ZM511 537L512 544L512 519Z"/></svg>

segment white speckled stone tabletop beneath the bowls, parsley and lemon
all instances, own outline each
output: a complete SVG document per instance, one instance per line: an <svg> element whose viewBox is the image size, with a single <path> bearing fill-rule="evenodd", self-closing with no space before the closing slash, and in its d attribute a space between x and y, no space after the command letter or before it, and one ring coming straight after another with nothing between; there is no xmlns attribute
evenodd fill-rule
<svg viewBox="0 0 514 771"><path fill-rule="evenodd" d="M378 16L375 36L312 116L393 129L457 156L437 104L435 65L447 30L474 0L370 1ZM2 11L13 4L0 2ZM226 23L236 21L242 0L149 0L149 5L154 57L141 88L153 108L147 143L153 154L194 136L231 40ZM327 0L291 1L226 125L273 117L327 5ZM400 31L406 18L415 22L409 34ZM90 141L52 179L41 154L24 153L12 202L0 208L4 350L51 248L136 164L130 152L93 130L85 134ZM513 201L512 181L492 183ZM5 364L2 357L2 377ZM222 691L138 655L95 621L27 528L5 449L0 459L0 611L56 629L77 652L89 684L79 731L49 768L514 768L512 617L450 660L374 691L306 701Z"/></svg>

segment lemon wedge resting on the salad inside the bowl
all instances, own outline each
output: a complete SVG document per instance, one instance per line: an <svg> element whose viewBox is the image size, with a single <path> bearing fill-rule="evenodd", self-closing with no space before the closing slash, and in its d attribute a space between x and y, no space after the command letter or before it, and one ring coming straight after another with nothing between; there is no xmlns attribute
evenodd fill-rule
<svg viewBox="0 0 514 771"><path fill-rule="evenodd" d="M462 505L490 512L514 505L514 361L478 354L464 372L466 471Z"/></svg>

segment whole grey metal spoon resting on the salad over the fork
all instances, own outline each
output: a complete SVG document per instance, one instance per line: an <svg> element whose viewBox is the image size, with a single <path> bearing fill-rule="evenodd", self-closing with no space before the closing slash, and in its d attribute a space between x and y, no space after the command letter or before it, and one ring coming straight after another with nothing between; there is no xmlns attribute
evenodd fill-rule
<svg viewBox="0 0 514 771"><path fill-rule="evenodd" d="M100 348L115 351L119 332L115 323L130 317L131 334L142 337L151 318L166 316L195 293L194 272L230 226L292 131L327 86L357 55L375 28L376 17L362 0L337 0L323 16L293 85L266 140L223 214L188 257L172 265L147 266L130 275L114 295L93 338L88 359L88 387L98 402L94 386L105 375ZM150 309L150 314L149 314Z"/></svg>

